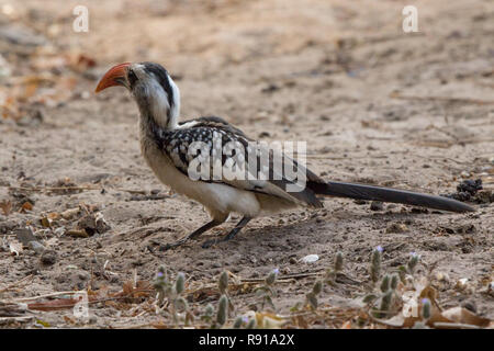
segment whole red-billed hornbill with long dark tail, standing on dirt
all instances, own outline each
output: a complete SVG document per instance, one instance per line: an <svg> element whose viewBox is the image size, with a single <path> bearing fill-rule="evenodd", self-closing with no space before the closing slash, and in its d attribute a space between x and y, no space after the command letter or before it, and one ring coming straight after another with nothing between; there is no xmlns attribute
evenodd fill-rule
<svg viewBox="0 0 494 351"><path fill-rule="evenodd" d="M259 146L239 128L217 116L180 122L179 88L168 70L159 64L143 61L116 65L101 78L96 93L110 87L126 88L137 103L141 151L155 176L175 193L201 203L211 217L210 222L189 235L164 245L162 250L197 239L226 222L232 214L239 214L242 219L226 235L204 241L203 248L233 239L258 216L294 207L321 208L326 196L401 203L457 213L475 211L465 203L444 196L370 184L326 181L297 159L290 157L291 155L267 150L266 146ZM229 152L223 146L229 146ZM280 173L279 163L276 165L280 158L283 167L305 176L303 188L296 189L300 184L295 183L293 177L288 177L282 171ZM263 162L262 166L259 162ZM263 178L243 179L221 172L213 172L213 177L210 172L209 178L199 177L203 173L197 171L198 165L203 166L201 172L211 171L213 166L220 165L235 168L244 176L247 172L260 176L262 172Z"/></svg>

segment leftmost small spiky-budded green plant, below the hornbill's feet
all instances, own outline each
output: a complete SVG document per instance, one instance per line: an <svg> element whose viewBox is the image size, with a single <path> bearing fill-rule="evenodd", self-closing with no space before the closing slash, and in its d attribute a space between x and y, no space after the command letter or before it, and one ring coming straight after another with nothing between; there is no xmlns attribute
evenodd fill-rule
<svg viewBox="0 0 494 351"><path fill-rule="evenodd" d="M164 265L158 269L154 287L157 291L156 304L158 310L164 310L172 317L173 324L184 321L188 326L193 321L189 304L181 296L186 290L186 275L178 273L175 281L170 280L171 272Z"/></svg>

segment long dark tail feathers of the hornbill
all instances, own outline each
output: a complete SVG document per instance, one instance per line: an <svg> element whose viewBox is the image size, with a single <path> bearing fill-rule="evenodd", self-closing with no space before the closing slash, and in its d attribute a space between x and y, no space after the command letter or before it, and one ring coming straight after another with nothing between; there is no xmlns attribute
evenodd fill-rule
<svg viewBox="0 0 494 351"><path fill-rule="evenodd" d="M398 204L436 208L450 212L475 211L475 208L452 199L420 194L412 191L397 190L391 188L345 183L345 182L327 182L327 183L311 182L308 184L308 188L311 188L316 194L328 196L394 202Z"/></svg>

